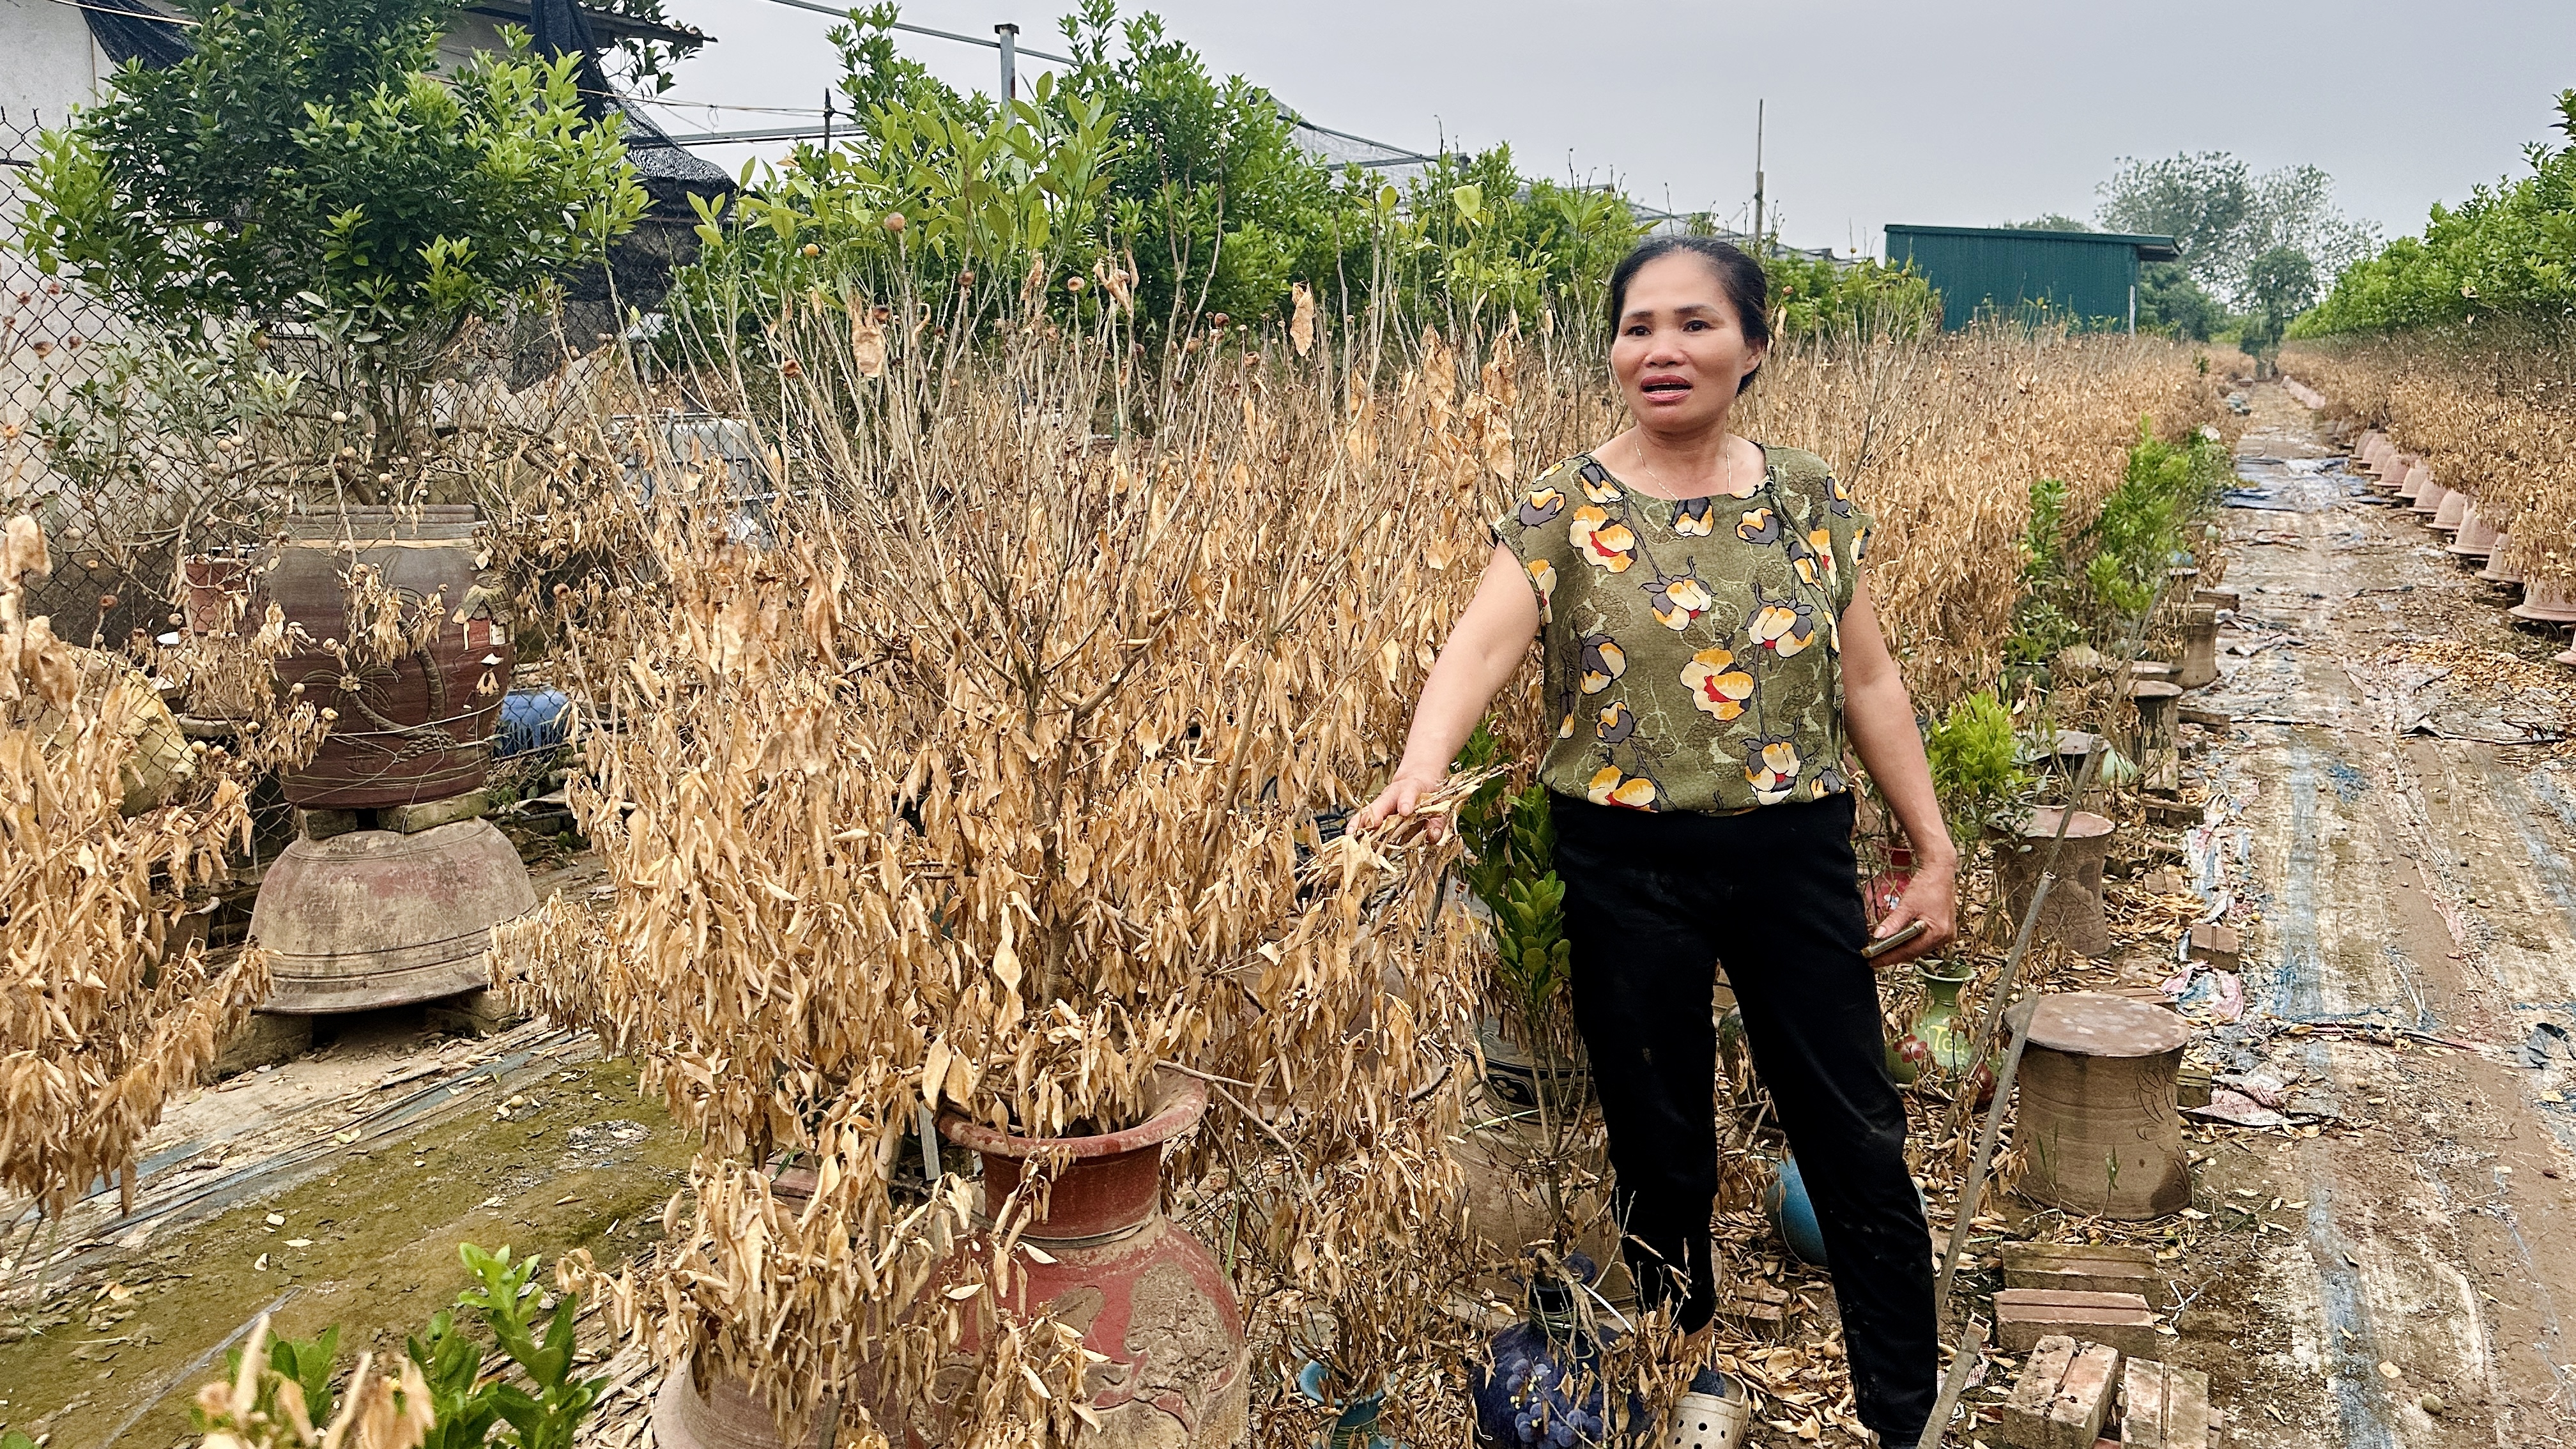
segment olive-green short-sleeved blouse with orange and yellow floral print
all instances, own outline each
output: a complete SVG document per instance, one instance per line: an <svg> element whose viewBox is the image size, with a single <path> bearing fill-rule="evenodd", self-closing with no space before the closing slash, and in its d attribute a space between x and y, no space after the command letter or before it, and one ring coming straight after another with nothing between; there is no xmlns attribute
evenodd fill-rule
<svg viewBox="0 0 2576 1449"><path fill-rule="evenodd" d="M1839 621L1870 516L1816 454L1762 459L1667 500L1579 454L1494 521L1538 590L1548 789L1718 815L1850 789Z"/></svg>

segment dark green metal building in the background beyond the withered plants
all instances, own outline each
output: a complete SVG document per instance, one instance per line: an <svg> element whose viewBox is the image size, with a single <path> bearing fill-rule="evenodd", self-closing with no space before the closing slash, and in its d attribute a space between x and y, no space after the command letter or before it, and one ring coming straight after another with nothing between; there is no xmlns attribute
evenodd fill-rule
<svg viewBox="0 0 2576 1449"><path fill-rule="evenodd" d="M2174 260L2174 237L2022 232L2017 227L1888 227L1888 266L1914 263L1940 291L1940 325L1976 317L2138 330L2138 263Z"/></svg>

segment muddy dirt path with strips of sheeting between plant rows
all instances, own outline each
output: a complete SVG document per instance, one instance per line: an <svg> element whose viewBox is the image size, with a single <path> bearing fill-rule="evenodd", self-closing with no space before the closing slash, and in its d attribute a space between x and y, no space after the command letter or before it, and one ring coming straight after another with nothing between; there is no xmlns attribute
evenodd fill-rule
<svg viewBox="0 0 2576 1449"><path fill-rule="evenodd" d="M2465 1049L2275 1039L2360 1129L2221 1152L2202 1209L2293 1212L2182 1328L2241 1354L2213 1364L2239 1444L2571 1444L2576 1062L2535 1029L2576 1029L2576 758L2496 743L2568 730L2566 632L2517 632L2442 534L2324 464L2306 407L2254 400L2257 508L2223 513L2241 627L2205 694L2236 719L2205 771L2251 846L2249 1018Z"/></svg>

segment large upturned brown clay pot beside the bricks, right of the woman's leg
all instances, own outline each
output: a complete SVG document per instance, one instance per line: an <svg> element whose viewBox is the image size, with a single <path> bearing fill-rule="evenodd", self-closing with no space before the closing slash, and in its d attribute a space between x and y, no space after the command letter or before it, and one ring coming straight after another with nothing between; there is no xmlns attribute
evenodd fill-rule
<svg viewBox="0 0 2576 1449"><path fill-rule="evenodd" d="M2076 990L2009 1011L2030 1024L2014 1078L2020 1191L2066 1212L2146 1220L2192 1204L2174 1073L2182 1016L2125 995Z"/></svg>

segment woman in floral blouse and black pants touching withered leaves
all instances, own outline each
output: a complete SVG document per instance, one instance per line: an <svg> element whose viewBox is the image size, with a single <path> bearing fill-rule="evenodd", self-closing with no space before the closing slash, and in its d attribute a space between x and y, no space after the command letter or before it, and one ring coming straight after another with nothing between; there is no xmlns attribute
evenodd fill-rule
<svg viewBox="0 0 2576 1449"><path fill-rule="evenodd" d="M1726 431L1770 348L1765 302L1759 263L1705 237L1654 237L1610 273L1610 371L1636 425L1494 523L1404 761L1358 825L1440 786L1535 634L1574 1021L1638 1292L1692 1333L1716 1310L1723 962L1824 1230L1860 1418L1914 1444L1937 1369L1929 1238L1873 964L1950 941L1958 851L1860 575L1868 513L1824 459ZM1844 748L1917 859L1878 933L1922 933L1875 962Z"/></svg>

